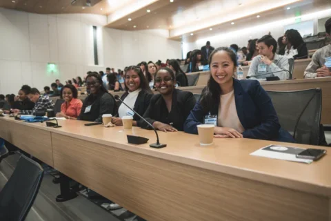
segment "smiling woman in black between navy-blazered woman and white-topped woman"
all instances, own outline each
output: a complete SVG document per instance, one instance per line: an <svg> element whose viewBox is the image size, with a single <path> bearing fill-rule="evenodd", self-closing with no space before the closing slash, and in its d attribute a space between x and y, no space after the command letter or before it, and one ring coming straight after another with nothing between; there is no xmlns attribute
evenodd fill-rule
<svg viewBox="0 0 331 221"><path fill-rule="evenodd" d="M183 123L194 107L195 98L191 92L175 89L176 77L170 68L161 68L155 75L154 95L143 115L159 131L183 131ZM141 120L142 128L150 128Z"/></svg>

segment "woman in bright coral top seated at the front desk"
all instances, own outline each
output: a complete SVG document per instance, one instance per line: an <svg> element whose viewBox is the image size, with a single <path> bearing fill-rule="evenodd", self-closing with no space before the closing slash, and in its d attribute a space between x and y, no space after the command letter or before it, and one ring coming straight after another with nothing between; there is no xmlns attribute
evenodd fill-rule
<svg viewBox="0 0 331 221"><path fill-rule="evenodd" d="M73 85L66 84L61 89L61 99L64 103L61 104L61 112L57 113L57 117L65 117L66 119L77 119L81 114L81 107L83 102L78 97L77 88Z"/></svg>

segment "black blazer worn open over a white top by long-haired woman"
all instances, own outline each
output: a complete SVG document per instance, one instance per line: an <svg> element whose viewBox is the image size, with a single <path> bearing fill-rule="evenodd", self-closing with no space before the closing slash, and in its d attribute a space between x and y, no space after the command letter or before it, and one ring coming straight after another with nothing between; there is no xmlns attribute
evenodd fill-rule
<svg viewBox="0 0 331 221"><path fill-rule="evenodd" d="M128 92L124 93L121 97L121 100L123 101L124 99L126 99L127 96ZM138 94L136 102L134 103L133 110L139 113L139 115L143 116L148 106L150 106L150 99L152 99L152 97L152 93L148 93L146 90L141 90ZM133 120L137 121L137 126L140 126L141 119L138 115L134 114Z"/></svg>

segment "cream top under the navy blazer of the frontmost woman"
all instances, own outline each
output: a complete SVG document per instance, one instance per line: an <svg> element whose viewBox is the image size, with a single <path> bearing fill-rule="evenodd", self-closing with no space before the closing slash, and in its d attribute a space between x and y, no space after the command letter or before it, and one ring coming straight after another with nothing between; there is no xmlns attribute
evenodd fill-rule
<svg viewBox="0 0 331 221"><path fill-rule="evenodd" d="M217 123L218 126L234 128L234 130L239 133L245 131L237 115L234 90L225 95L221 95Z"/></svg>

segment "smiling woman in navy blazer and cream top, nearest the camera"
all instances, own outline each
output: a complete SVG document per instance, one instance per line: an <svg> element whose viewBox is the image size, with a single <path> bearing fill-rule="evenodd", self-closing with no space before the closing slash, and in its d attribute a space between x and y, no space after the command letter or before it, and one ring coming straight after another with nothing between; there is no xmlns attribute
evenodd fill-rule
<svg viewBox="0 0 331 221"><path fill-rule="evenodd" d="M211 77L201 99L184 124L186 133L197 134L197 125L214 118L215 137L253 138L294 142L281 130L271 99L259 81L233 78L237 57L230 48L217 48L210 55Z"/></svg>

